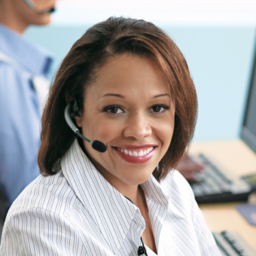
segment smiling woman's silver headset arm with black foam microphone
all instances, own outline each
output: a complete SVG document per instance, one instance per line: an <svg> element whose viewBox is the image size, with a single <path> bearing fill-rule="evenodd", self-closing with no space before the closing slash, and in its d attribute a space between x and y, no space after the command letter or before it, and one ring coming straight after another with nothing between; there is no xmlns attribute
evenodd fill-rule
<svg viewBox="0 0 256 256"><path fill-rule="evenodd" d="M75 126L75 123L73 123L72 118L70 117L70 103L66 105L64 116L65 120L68 123L69 127L72 129L74 133L76 133L81 139L84 139L86 142L89 142L90 145L92 145L93 149L96 151L99 151L101 153L104 153L107 150L106 145L103 142L99 142L97 140L91 141L90 139L85 138L78 130L78 127Z"/></svg>

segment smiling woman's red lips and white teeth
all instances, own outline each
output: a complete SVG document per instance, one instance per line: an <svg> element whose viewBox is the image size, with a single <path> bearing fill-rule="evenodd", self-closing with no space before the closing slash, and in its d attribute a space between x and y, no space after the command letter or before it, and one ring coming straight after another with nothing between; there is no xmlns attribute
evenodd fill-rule
<svg viewBox="0 0 256 256"><path fill-rule="evenodd" d="M115 148L117 154L129 163L145 163L154 154L155 147L144 148Z"/></svg>

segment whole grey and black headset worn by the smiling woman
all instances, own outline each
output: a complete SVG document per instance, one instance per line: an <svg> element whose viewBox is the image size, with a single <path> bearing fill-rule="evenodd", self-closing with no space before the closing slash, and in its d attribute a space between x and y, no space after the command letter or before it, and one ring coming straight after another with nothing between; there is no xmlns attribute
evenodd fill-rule
<svg viewBox="0 0 256 256"><path fill-rule="evenodd" d="M78 113L78 102L76 99L73 102L69 102L68 105L66 105L65 111L64 111L64 117L66 122L68 123L69 127L72 129L74 133L76 133L81 139L84 139L86 142L89 142L90 145L95 149L96 151L99 151L101 153L104 153L107 150L106 145L103 142L99 142L97 140L92 141L90 139L85 138L80 131L78 130L78 127L75 126L75 123L73 122L72 118L75 118L75 114Z"/></svg>

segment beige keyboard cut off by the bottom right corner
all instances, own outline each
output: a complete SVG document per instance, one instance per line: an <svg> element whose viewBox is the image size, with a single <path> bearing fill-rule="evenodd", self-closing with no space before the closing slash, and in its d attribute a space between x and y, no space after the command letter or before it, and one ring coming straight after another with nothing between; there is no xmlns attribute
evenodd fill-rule
<svg viewBox="0 0 256 256"><path fill-rule="evenodd" d="M256 252L236 232L212 232L216 244L224 256L256 256Z"/></svg>

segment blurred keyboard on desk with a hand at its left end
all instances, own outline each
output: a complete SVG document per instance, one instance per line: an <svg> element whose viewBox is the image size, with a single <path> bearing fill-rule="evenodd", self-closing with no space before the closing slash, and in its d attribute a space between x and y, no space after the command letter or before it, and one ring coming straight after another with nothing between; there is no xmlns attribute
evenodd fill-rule
<svg viewBox="0 0 256 256"><path fill-rule="evenodd" d="M251 186L248 182L236 178L226 170L218 169L209 157L199 154L191 157L196 163L202 163L205 168L197 173L190 186L194 190L197 203L239 202L248 200Z"/></svg>

